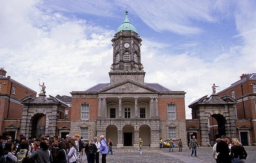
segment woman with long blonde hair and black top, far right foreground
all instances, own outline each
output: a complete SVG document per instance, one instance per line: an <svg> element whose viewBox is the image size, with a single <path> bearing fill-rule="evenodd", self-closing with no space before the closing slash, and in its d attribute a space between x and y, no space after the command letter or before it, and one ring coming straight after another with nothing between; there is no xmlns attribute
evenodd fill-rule
<svg viewBox="0 0 256 163"><path fill-rule="evenodd" d="M230 156L232 159L239 159L240 163L245 163L245 159L247 157L247 153L242 146L242 144L237 140L237 138L233 139L234 145L231 147Z"/></svg>

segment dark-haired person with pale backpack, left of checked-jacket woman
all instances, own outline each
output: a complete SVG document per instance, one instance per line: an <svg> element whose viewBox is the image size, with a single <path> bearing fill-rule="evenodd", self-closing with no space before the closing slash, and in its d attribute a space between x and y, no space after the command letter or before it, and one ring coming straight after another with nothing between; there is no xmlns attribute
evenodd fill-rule
<svg viewBox="0 0 256 163"><path fill-rule="evenodd" d="M29 156L31 152L29 151L29 143L27 141L23 141L20 144L20 151L17 152L16 156L18 162L26 163L29 162Z"/></svg>

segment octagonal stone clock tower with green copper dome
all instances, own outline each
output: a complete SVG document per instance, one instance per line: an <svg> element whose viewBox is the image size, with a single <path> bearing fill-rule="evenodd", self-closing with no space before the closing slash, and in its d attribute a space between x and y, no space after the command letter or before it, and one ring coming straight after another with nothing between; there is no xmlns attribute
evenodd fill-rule
<svg viewBox="0 0 256 163"><path fill-rule="evenodd" d="M113 64L109 72L110 84L125 79L135 80L144 84L143 65L141 63L140 45L142 39L137 29L128 19L125 11L125 20L117 28L113 42Z"/></svg>

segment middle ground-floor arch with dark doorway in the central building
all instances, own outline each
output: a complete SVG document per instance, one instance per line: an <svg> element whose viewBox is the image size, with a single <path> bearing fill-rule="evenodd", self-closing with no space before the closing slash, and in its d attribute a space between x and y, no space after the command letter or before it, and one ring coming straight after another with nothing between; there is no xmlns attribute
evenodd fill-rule
<svg viewBox="0 0 256 163"><path fill-rule="evenodd" d="M133 146L134 144L134 128L131 125L123 127L123 143L124 146Z"/></svg>

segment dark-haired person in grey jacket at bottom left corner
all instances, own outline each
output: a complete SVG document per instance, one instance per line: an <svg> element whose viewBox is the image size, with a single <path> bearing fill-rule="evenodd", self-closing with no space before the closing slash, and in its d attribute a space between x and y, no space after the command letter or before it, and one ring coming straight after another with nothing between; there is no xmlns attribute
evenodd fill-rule
<svg viewBox="0 0 256 163"><path fill-rule="evenodd" d="M12 142L7 142L4 146L3 150L3 160L5 163L17 163L17 158L16 156L12 155L12 148L13 148L13 143Z"/></svg>

